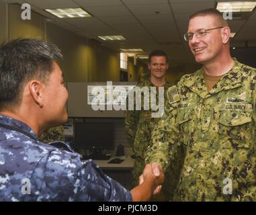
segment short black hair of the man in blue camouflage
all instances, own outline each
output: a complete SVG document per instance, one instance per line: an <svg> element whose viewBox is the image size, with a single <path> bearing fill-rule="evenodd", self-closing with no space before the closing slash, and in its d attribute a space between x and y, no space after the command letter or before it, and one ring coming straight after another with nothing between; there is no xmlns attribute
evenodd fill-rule
<svg viewBox="0 0 256 215"><path fill-rule="evenodd" d="M53 61L62 58L58 47L34 38L19 38L0 46L0 110L22 101L24 85L31 79L48 81Z"/></svg>

